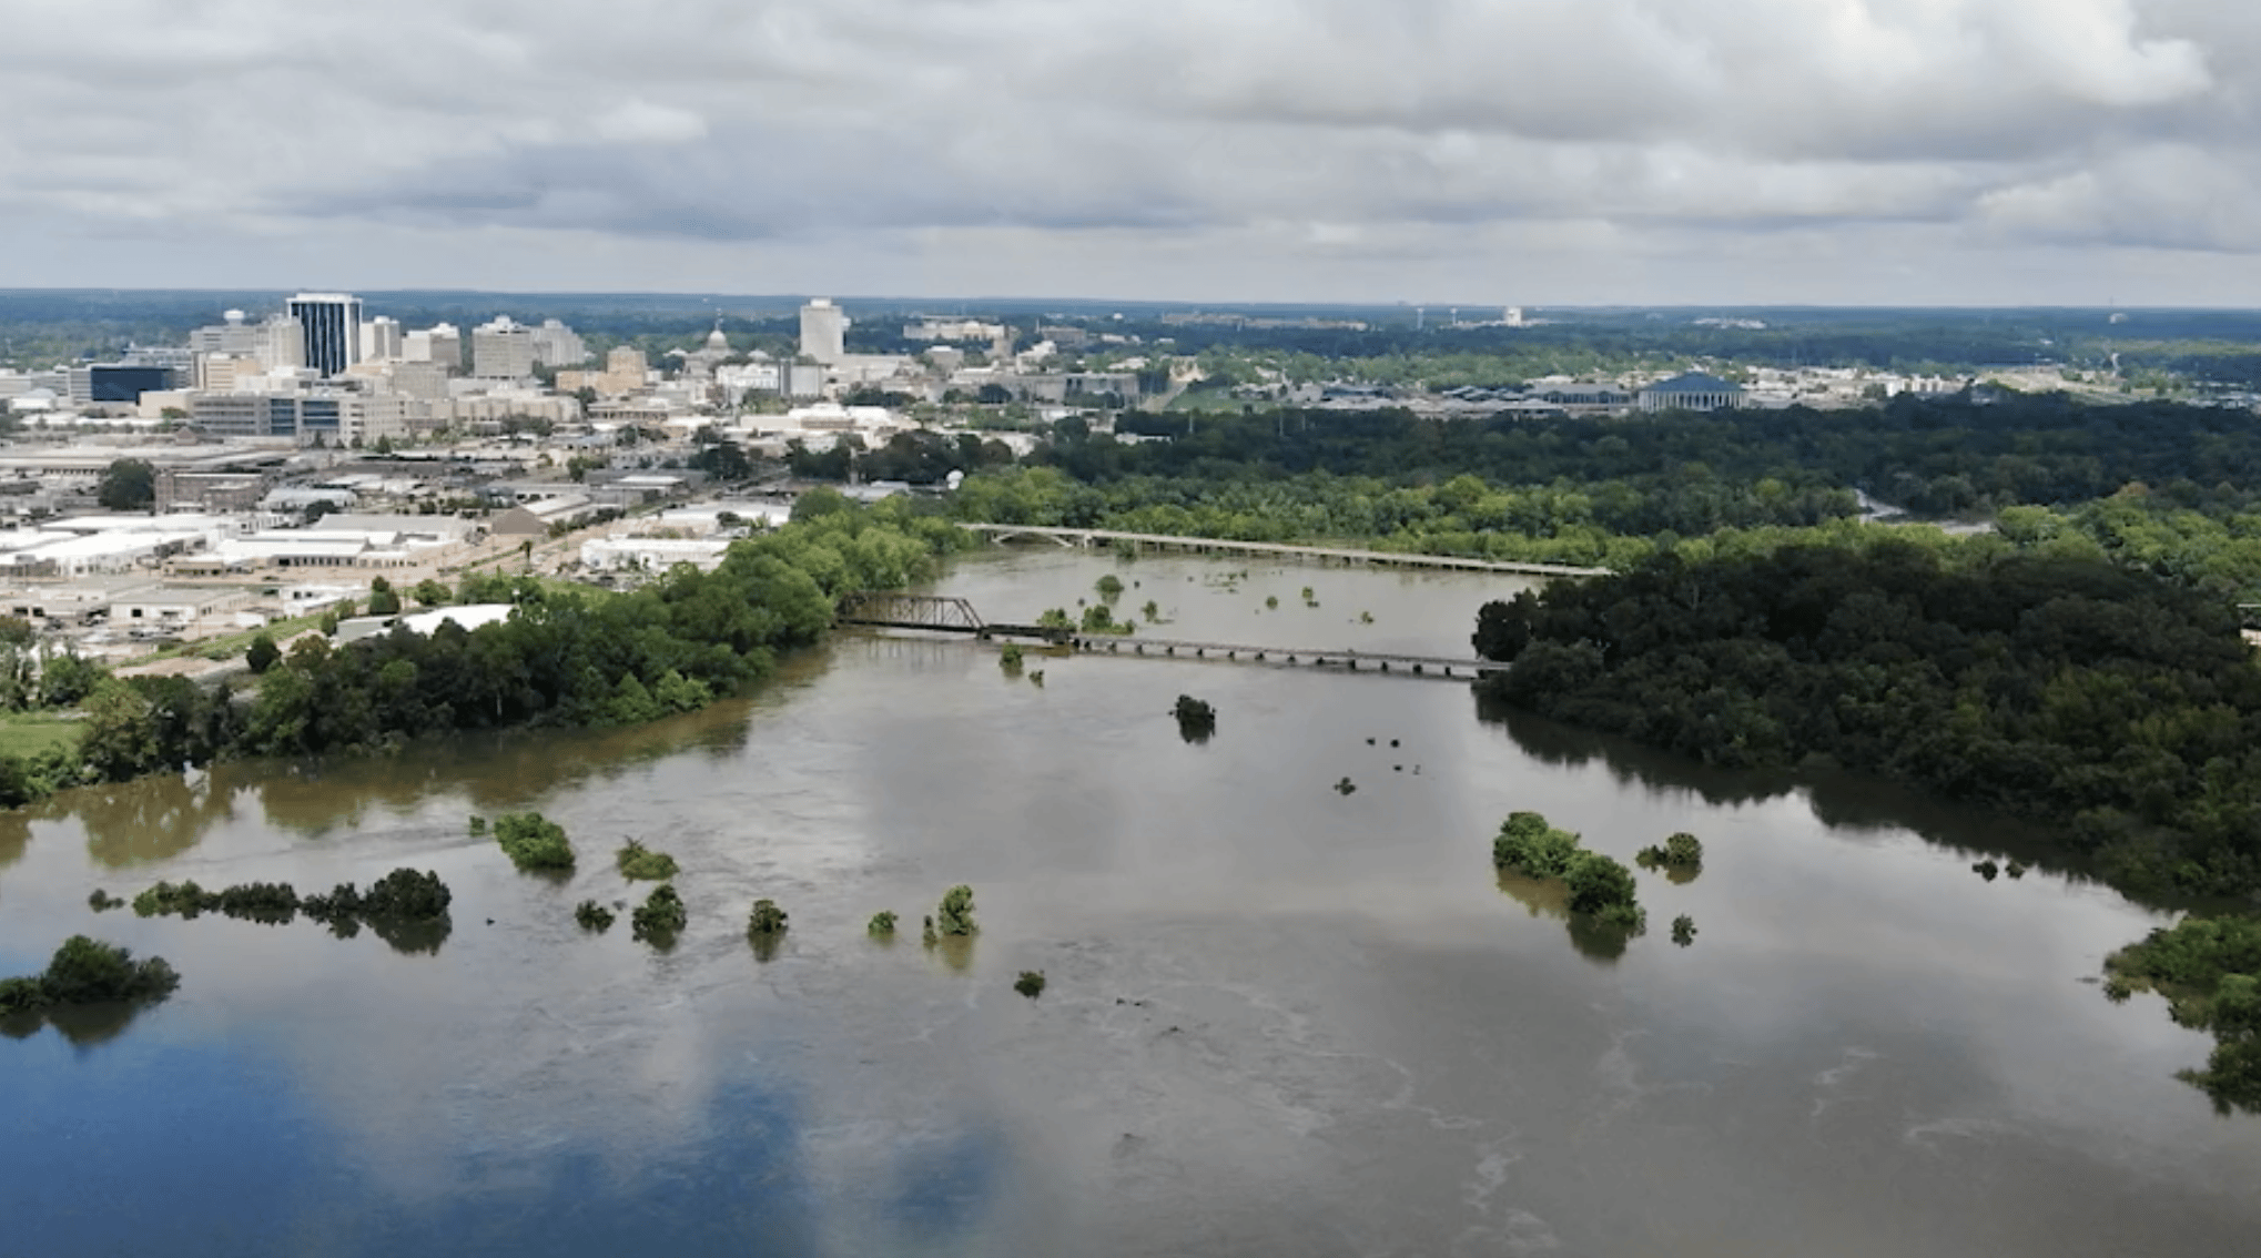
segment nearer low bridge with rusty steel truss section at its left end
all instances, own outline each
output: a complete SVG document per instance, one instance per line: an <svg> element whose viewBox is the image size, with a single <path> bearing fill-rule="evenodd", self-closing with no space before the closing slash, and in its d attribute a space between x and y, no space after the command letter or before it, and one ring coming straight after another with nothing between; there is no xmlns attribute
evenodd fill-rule
<svg viewBox="0 0 2261 1258"><path fill-rule="evenodd" d="M902 595L864 591L843 595L837 624L873 629L920 629L961 634L977 640L1033 640L1076 654L1146 656L1212 663L1262 663L1282 667L1339 667L1343 672L1386 672L1395 677L1481 677L1508 665L1470 656L1418 656L1406 652L1259 647L1248 643L1205 643L1192 638L1144 638L1137 634L1083 634L1058 624L993 624L981 620L963 597Z"/></svg>

